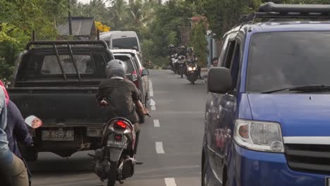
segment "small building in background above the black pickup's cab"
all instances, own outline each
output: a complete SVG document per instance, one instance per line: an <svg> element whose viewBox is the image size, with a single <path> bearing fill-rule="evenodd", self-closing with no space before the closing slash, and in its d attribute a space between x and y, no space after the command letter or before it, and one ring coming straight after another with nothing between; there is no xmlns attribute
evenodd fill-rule
<svg viewBox="0 0 330 186"><path fill-rule="evenodd" d="M74 39L97 39L97 29L95 27L94 18L92 17L72 17L72 37ZM69 27L68 22L57 27L61 35L61 39L68 39Z"/></svg>

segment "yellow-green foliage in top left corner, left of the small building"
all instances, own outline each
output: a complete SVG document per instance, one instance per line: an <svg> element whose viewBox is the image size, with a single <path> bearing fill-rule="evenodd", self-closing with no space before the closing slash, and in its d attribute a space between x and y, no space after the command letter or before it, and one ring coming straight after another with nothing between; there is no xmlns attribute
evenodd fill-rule
<svg viewBox="0 0 330 186"><path fill-rule="evenodd" d="M66 0L0 0L0 78L9 79L16 56L37 31L37 39L55 39L55 23L67 12ZM9 16L10 15L10 16Z"/></svg>

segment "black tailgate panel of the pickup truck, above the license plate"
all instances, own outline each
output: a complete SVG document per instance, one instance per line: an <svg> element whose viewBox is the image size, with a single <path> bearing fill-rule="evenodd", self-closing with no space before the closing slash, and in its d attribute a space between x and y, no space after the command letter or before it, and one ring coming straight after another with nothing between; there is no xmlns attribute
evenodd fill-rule
<svg viewBox="0 0 330 186"><path fill-rule="evenodd" d="M104 113L97 106L96 87L9 88L8 93L23 117L38 116L46 125L105 122Z"/></svg>

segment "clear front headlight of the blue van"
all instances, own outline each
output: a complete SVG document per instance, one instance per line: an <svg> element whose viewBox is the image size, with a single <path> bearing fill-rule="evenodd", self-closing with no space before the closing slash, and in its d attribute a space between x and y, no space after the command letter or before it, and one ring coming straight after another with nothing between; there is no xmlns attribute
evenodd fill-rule
<svg viewBox="0 0 330 186"><path fill-rule="evenodd" d="M283 137L279 123L236 120L233 139L247 149L283 153Z"/></svg>

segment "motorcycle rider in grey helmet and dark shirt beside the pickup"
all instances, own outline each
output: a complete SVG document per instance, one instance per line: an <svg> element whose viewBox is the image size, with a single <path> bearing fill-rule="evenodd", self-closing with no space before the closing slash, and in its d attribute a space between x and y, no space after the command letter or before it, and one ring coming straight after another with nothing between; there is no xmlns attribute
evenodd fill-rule
<svg viewBox="0 0 330 186"><path fill-rule="evenodd" d="M123 61L118 59L109 61L106 66L108 79L103 80L99 85L96 98L100 106L106 106L107 120L122 117L130 120L134 125L136 154L140 137L139 117L136 110L144 115L148 112L140 101L140 92L133 82L126 79L126 68Z"/></svg>

